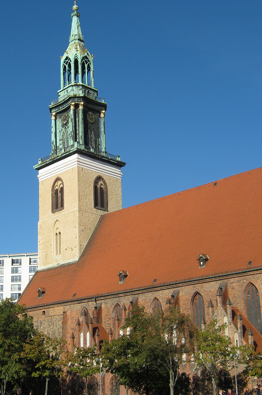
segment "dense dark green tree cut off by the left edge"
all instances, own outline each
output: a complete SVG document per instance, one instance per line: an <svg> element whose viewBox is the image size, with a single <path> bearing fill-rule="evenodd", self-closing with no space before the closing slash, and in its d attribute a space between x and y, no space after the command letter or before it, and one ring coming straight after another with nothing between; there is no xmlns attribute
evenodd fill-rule
<svg viewBox="0 0 262 395"><path fill-rule="evenodd" d="M32 317L24 306L12 299L0 303L0 378L12 383L26 376L27 363L22 357L23 344L34 335Z"/></svg>

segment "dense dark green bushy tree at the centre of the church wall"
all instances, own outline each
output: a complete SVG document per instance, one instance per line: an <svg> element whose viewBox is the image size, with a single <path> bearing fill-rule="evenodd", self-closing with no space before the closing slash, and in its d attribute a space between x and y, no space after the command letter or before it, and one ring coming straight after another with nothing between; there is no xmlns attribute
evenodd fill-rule
<svg viewBox="0 0 262 395"><path fill-rule="evenodd" d="M129 335L103 342L101 352L107 371L139 394L165 393L168 374L159 363L159 336L153 317L137 306L126 319L125 327L132 328Z"/></svg>

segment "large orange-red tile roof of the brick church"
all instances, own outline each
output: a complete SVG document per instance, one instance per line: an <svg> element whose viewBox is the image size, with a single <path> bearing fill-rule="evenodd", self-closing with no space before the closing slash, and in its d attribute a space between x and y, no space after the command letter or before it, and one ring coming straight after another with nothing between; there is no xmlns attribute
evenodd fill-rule
<svg viewBox="0 0 262 395"><path fill-rule="evenodd" d="M19 303L37 306L74 293L79 299L260 267L261 201L259 168L103 215L79 261L38 271ZM201 268L200 254L210 258ZM128 276L119 284L122 269ZM39 286L46 288L41 299Z"/></svg>

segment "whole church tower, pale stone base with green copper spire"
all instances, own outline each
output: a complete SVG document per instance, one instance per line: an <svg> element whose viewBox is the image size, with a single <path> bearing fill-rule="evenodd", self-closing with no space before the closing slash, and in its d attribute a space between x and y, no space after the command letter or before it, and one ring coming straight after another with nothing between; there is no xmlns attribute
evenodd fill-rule
<svg viewBox="0 0 262 395"><path fill-rule="evenodd" d="M76 3L76 2L75 2ZM122 208L120 156L106 150L107 103L94 87L93 56L73 6L61 89L49 106L52 152L34 166L39 179L39 269L79 259L100 216Z"/></svg>

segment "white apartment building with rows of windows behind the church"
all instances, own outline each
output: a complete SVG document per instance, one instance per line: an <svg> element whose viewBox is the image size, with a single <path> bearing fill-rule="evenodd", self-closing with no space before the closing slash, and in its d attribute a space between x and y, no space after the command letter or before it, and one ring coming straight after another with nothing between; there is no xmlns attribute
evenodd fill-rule
<svg viewBox="0 0 262 395"><path fill-rule="evenodd" d="M37 253L0 255L0 300L17 301L37 271L37 261Z"/></svg>

